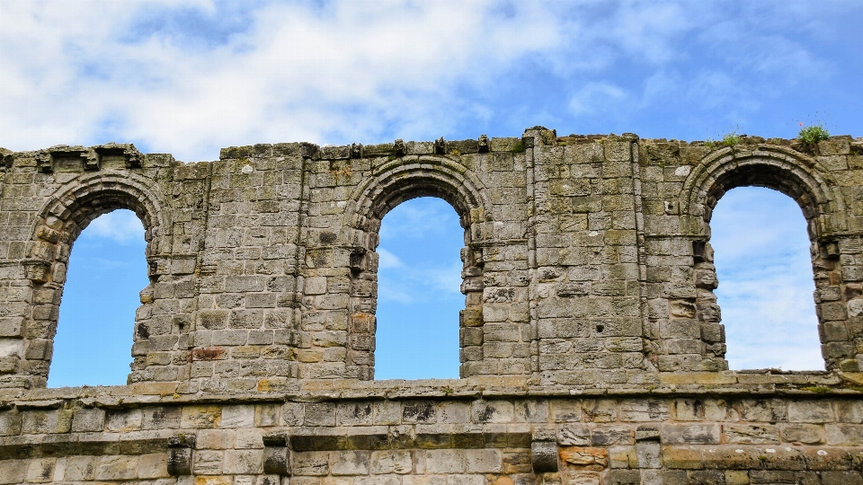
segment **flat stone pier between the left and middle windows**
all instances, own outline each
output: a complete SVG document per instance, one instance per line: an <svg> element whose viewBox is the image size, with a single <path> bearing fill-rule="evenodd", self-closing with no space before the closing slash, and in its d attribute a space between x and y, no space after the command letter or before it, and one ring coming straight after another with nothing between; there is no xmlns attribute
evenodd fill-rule
<svg viewBox="0 0 863 485"><path fill-rule="evenodd" d="M201 390L276 391L298 377L302 194L299 144L226 148L212 163L189 356Z"/></svg>

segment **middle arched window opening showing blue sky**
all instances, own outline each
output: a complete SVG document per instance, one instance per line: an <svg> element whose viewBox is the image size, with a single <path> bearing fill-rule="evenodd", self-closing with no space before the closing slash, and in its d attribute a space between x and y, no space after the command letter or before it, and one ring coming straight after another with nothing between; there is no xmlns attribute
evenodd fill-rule
<svg viewBox="0 0 863 485"><path fill-rule="evenodd" d="M376 379L458 378L464 229L440 198L407 200L381 222Z"/></svg>

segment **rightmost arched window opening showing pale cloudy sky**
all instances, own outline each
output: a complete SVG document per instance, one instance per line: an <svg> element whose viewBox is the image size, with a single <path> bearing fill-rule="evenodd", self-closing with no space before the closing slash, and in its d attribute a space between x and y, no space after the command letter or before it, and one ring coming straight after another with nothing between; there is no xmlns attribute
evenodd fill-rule
<svg viewBox="0 0 863 485"><path fill-rule="evenodd" d="M729 367L823 369L811 242L795 200L729 190L710 220Z"/></svg>

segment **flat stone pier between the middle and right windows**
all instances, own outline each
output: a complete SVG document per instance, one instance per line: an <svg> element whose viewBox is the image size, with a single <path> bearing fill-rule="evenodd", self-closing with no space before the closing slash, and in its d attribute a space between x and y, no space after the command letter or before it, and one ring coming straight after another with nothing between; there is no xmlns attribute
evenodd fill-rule
<svg viewBox="0 0 863 485"><path fill-rule="evenodd" d="M642 380L632 139L545 138L534 150L541 380Z"/></svg>

